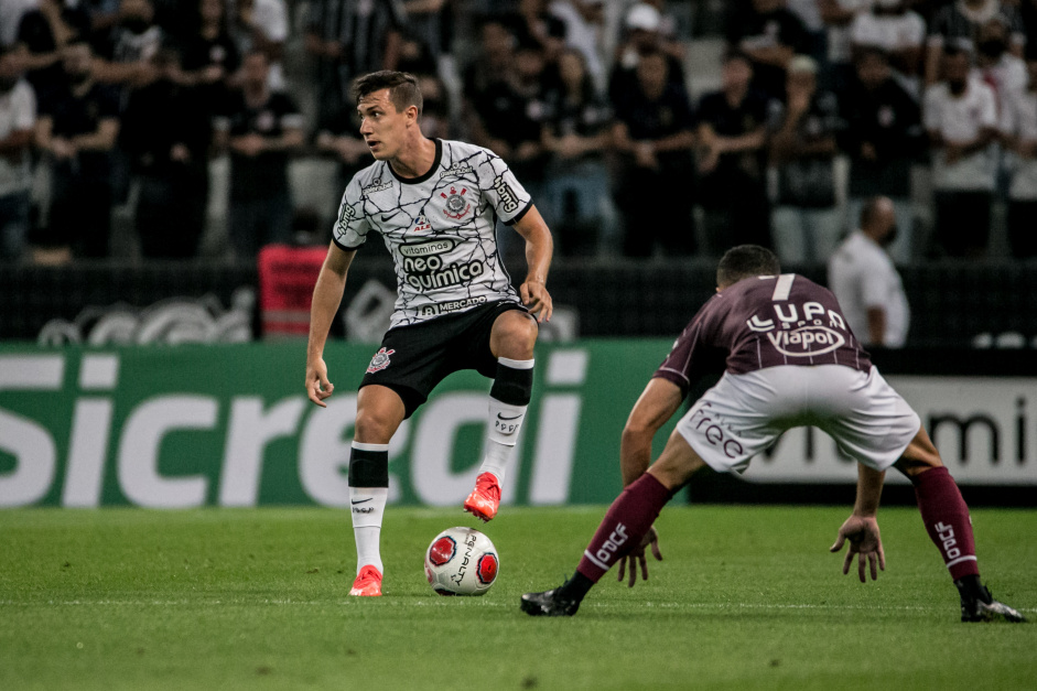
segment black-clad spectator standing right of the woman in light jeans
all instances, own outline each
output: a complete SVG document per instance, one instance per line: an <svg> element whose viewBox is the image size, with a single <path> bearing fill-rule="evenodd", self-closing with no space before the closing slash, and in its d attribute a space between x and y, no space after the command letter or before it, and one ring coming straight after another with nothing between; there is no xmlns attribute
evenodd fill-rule
<svg viewBox="0 0 1037 691"><path fill-rule="evenodd" d="M637 83L617 95L615 148L623 154L616 205L623 218L624 253L650 257L656 242L668 255L695 250L694 144L688 91L667 74L661 53L641 55Z"/></svg>

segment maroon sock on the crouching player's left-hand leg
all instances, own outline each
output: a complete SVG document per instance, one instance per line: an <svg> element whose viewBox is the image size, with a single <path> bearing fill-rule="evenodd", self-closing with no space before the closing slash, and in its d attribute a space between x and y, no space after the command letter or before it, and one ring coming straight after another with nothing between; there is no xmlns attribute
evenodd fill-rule
<svg viewBox="0 0 1037 691"><path fill-rule="evenodd" d="M649 473L623 490L605 514L576 571L597 583L651 528L672 494Z"/></svg>

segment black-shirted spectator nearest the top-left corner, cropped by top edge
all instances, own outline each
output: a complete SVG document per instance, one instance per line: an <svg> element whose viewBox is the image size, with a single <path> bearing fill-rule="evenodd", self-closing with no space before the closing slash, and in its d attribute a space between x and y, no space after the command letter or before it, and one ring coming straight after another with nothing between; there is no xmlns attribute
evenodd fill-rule
<svg viewBox="0 0 1037 691"><path fill-rule="evenodd" d="M36 95L61 88L65 83L62 48L77 39L88 39L90 18L62 0L40 0L40 7L22 15L15 44L26 69L25 79Z"/></svg>

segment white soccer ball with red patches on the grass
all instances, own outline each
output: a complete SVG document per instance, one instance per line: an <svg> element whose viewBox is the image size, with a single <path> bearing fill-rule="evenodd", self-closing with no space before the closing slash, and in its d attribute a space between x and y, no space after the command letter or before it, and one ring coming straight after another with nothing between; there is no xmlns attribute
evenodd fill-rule
<svg viewBox="0 0 1037 691"><path fill-rule="evenodd" d="M440 595L485 595L498 563L497 548L474 528L447 528L425 550L425 576Z"/></svg>

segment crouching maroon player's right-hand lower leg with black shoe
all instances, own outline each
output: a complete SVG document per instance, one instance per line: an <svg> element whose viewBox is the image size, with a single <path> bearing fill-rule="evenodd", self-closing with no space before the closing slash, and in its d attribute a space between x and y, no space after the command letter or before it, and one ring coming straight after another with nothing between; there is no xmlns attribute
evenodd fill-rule
<svg viewBox="0 0 1037 691"><path fill-rule="evenodd" d="M897 461L896 468L915 486L922 522L961 595L962 620L1000 616L1009 622L1022 622L1022 615L994 601L980 582L969 507L925 428L919 428Z"/></svg>

